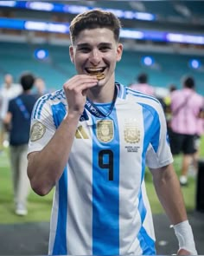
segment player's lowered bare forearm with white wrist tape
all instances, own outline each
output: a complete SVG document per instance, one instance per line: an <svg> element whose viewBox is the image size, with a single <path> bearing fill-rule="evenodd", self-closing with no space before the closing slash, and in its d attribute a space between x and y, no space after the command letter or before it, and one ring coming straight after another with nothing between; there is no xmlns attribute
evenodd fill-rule
<svg viewBox="0 0 204 256"><path fill-rule="evenodd" d="M172 165L151 170L156 187L156 194L161 201L169 220L174 225L175 235L179 242L179 255L197 254L194 235L188 223L188 216L182 191Z"/></svg>

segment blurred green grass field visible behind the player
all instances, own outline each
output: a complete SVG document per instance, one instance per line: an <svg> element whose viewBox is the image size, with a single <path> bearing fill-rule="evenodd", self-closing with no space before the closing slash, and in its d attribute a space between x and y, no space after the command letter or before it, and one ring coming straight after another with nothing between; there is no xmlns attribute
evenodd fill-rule
<svg viewBox="0 0 204 256"><path fill-rule="evenodd" d="M201 155L204 155L204 152L201 151ZM175 158L174 164L176 173L178 174L181 165L181 157ZM149 170L147 170L145 180L152 212L163 213L163 208L156 197ZM195 207L195 189L196 181L194 178L189 178L188 187L182 187L188 212L193 211ZM53 194L54 190L47 196L41 197L31 191L28 203L29 214L25 217L16 216L14 213L9 153L7 150L4 150L3 153L0 154L0 223L49 221Z"/></svg>

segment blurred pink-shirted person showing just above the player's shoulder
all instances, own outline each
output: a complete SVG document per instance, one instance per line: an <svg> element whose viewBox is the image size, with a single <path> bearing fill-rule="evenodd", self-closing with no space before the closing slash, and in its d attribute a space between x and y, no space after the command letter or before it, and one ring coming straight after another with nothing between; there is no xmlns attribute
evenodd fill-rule
<svg viewBox="0 0 204 256"><path fill-rule="evenodd" d="M148 75L145 73L138 75L137 83L131 84L130 88L147 95L155 95L155 89L148 83Z"/></svg>

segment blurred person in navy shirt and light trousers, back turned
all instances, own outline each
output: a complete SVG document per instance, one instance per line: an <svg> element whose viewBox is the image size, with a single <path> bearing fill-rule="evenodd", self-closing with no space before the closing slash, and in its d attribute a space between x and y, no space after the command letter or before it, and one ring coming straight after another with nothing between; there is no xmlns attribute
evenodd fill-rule
<svg viewBox="0 0 204 256"><path fill-rule="evenodd" d="M32 73L25 72L20 77L22 94L10 100L4 124L10 127L10 164L14 188L15 212L26 215L27 199L30 191L27 175L27 153L29 143L30 118L36 98L31 94L35 82Z"/></svg>

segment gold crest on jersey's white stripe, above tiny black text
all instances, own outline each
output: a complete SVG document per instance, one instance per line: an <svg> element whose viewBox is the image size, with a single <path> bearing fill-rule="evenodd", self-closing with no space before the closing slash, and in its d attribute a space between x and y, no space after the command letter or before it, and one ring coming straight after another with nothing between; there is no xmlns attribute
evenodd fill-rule
<svg viewBox="0 0 204 256"><path fill-rule="evenodd" d="M140 129L137 121L126 120L124 123L124 141L128 143L138 143L140 141Z"/></svg>

